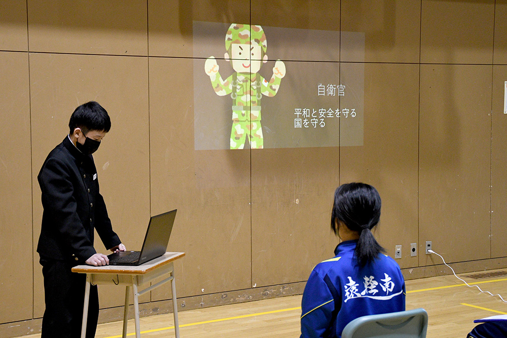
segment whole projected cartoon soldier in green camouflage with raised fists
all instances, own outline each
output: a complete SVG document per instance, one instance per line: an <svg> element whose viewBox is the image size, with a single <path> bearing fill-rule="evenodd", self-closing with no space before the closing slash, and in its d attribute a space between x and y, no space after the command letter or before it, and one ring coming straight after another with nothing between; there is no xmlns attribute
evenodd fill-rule
<svg viewBox="0 0 507 338"><path fill-rule="evenodd" d="M285 64L280 60L275 62L269 81L258 73L268 60L266 35L258 25L233 23L227 31L225 47L225 59L234 69L232 75L224 81L212 56L206 59L204 70L216 95L230 94L233 99L231 149L243 149L247 137L250 148L263 148L261 98L276 95L285 76Z"/></svg>

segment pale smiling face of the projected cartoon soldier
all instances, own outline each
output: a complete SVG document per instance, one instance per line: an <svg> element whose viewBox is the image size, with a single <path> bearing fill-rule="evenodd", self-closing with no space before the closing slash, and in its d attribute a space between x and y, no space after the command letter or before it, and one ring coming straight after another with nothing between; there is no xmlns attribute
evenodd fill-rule
<svg viewBox="0 0 507 338"><path fill-rule="evenodd" d="M229 58L228 53L226 53L226 58ZM257 73L268 57L264 55L264 58L261 58L262 47L257 44L231 45L232 67L239 73Z"/></svg>

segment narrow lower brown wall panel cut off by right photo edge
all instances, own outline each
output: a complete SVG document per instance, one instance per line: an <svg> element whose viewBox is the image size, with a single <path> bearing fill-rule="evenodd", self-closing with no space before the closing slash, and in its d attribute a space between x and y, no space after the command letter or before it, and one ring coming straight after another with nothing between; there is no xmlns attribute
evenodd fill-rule
<svg viewBox="0 0 507 338"><path fill-rule="evenodd" d="M507 66L493 66L493 109L491 124L491 256L505 257L507 238L507 114L504 114Z"/></svg>

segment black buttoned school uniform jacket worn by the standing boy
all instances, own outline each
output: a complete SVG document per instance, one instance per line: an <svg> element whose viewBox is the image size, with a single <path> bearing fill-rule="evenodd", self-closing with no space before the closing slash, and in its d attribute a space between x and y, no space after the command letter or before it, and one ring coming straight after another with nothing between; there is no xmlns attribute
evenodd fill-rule
<svg viewBox="0 0 507 338"><path fill-rule="evenodd" d="M94 229L107 249L121 243L99 193L93 157L82 154L68 136L49 153L37 178L44 207L41 258L83 264L96 253Z"/></svg>

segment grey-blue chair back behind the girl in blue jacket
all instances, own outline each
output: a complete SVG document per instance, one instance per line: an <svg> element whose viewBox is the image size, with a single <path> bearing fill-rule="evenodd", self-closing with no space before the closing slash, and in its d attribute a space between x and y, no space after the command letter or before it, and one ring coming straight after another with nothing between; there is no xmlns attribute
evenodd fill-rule
<svg viewBox="0 0 507 338"><path fill-rule="evenodd" d="M359 317L348 323L342 338L426 338L428 314L424 309Z"/></svg>

